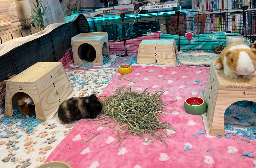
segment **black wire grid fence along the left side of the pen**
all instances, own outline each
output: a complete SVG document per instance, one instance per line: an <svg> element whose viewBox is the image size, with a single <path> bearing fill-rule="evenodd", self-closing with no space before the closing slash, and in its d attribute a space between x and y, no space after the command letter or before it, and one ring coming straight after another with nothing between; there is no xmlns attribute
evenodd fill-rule
<svg viewBox="0 0 256 168"><path fill-rule="evenodd" d="M90 32L88 22L79 15L73 22L65 23L36 40L18 46L0 56L0 81L21 73L36 62L61 61L65 66L71 61L71 37ZM0 85L0 114L4 112L5 85Z"/></svg>

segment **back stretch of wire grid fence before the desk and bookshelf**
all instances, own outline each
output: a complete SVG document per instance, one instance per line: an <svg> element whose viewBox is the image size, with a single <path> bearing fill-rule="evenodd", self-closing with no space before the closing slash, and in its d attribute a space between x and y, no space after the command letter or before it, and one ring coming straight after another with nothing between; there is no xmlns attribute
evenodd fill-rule
<svg viewBox="0 0 256 168"><path fill-rule="evenodd" d="M175 39L178 49L183 52L215 52L216 46L226 46L226 35L243 34L244 13L243 10L227 12L227 9L179 14L158 12L150 16L128 15L123 20L120 15L105 15L88 21L91 32L108 32L111 53L137 54L143 37L152 32L159 32L160 39ZM129 50L131 44L137 48Z"/></svg>

